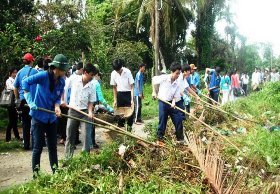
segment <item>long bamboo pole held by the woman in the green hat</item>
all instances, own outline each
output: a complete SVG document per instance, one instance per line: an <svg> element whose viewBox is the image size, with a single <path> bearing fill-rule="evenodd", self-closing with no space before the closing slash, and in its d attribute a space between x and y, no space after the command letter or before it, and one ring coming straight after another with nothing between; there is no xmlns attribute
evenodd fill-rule
<svg viewBox="0 0 280 194"><path fill-rule="evenodd" d="M27 104L25 104L24 106L25 106L25 107L29 107ZM51 113L51 114L55 114L55 111L51 111L51 110L44 109L44 108L40 108L40 107L37 107L37 108L38 108L38 110L40 110L40 111L44 111L44 112L48 112L48 113ZM159 144L156 144L156 143L154 143L154 142L149 142L149 141L147 141L147 140L145 140L145 139L142 139L142 138L140 138L140 137L138 137L138 136L135 136L135 135L133 135L133 134L131 134L131 133L128 133L127 131L126 131L126 133L125 133L125 132L119 131L119 130L117 130L117 129L112 129L112 128L110 128L110 127L106 127L106 126L103 126L103 125L100 125L100 124L97 124L97 123L94 123L94 122L90 122L90 121L88 121L88 120L83 120L83 119L76 118L76 117L73 117L73 116L69 116L69 115L66 115L66 114L61 114L61 116L67 117L67 118L71 118L71 119L74 119L74 120L78 120L78 121L81 121L81 122L85 122L85 123L88 123L88 124L92 124L92 125L95 125L95 126L98 126L98 127L102 127L102 128L104 128L104 129L109 129L109 130L111 130L111 131L115 131L115 132L117 132L117 133L121 133L121 134L123 134L123 135L129 136L129 137L131 137L131 138L135 138L135 139L137 139L137 140L143 141L143 142L148 143L148 144L153 145L153 146L157 146L157 147L169 149L169 148L166 147L166 146L159 145Z"/></svg>

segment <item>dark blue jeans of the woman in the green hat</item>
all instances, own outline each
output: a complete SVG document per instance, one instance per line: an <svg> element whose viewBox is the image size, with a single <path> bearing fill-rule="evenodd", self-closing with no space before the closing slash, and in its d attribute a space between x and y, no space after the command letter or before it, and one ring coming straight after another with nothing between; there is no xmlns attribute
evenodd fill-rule
<svg viewBox="0 0 280 194"><path fill-rule="evenodd" d="M53 165L56 164L58 167L57 162L57 120L52 123L44 123L36 118L32 118L32 133L34 139L34 147L32 153L32 171L33 173L38 173L40 169L40 160L41 160L41 153L43 150L45 136L46 133L46 140L48 146L48 158L50 160L51 169L53 173L55 169ZM38 167L37 167L38 165ZM36 176L33 175L33 178Z"/></svg>

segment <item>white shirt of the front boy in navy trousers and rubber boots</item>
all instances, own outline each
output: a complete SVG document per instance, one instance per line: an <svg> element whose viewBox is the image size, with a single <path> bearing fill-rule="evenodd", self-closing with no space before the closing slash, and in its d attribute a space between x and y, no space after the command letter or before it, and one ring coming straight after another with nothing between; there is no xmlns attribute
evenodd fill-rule
<svg viewBox="0 0 280 194"><path fill-rule="evenodd" d="M177 99L177 96L180 95L181 87L179 87L177 79L171 84L171 74L154 76L153 84L160 84L158 97L164 100L171 101L173 97Z"/></svg>

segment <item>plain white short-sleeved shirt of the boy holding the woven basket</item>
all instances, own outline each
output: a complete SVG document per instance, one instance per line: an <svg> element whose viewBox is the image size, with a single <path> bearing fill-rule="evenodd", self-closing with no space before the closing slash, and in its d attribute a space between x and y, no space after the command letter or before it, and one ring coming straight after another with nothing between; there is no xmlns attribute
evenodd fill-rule
<svg viewBox="0 0 280 194"><path fill-rule="evenodd" d="M129 69L122 67L121 75L115 70L111 73L111 85L117 86L117 91L131 91L131 84L134 84L134 79Z"/></svg>

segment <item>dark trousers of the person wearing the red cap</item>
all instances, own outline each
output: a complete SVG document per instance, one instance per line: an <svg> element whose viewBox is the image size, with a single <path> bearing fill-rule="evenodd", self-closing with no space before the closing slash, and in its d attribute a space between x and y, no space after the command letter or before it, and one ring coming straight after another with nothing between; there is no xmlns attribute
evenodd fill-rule
<svg viewBox="0 0 280 194"><path fill-rule="evenodd" d="M30 129L31 129L31 119L29 115L30 108L24 107L22 110L22 133L23 133L23 147L28 149L30 146Z"/></svg>

